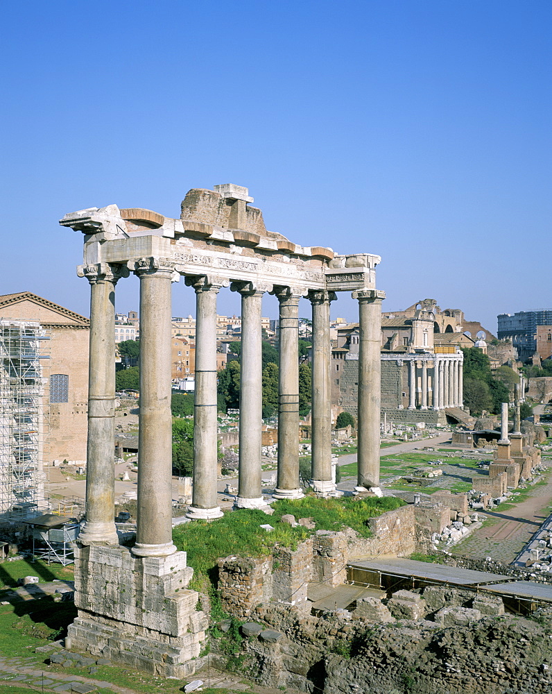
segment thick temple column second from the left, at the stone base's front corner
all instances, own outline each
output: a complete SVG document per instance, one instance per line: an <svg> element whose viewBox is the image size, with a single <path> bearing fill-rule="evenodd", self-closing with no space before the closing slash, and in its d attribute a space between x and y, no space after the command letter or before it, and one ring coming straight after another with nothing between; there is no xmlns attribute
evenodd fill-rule
<svg viewBox="0 0 552 694"><path fill-rule="evenodd" d="M138 557L166 557L172 541L171 280L174 264L140 258L140 424L138 430Z"/></svg>

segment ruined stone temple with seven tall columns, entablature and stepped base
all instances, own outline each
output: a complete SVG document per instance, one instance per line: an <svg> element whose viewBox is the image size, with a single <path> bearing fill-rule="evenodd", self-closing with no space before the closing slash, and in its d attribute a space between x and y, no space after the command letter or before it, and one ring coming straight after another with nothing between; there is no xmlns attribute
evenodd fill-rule
<svg viewBox="0 0 552 694"><path fill-rule="evenodd" d="M151 672L193 671L205 638L192 570L171 540L171 285L196 294L193 500L189 517L221 516L216 496L216 298L241 294L242 369L237 507L266 504L261 493L261 301L279 301L279 447L275 498L300 498L298 305L311 301L312 477L321 496L331 477L329 307L338 291L359 302L358 460L361 489L379 492L379 256L338 255L269 232L248 189L192 189L180 219L117 205L67 214L62 226L85 235L78 274L91 286L87 514L76 561L77 650ZM140 425L137 538L119 545L114 525L114 293L140 280Z"/></svg>

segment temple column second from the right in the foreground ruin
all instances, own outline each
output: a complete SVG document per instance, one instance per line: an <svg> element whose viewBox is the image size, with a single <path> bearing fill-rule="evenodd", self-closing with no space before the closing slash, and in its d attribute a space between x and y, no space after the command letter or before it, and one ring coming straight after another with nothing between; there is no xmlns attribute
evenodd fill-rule
<svg viewBox="0 0 552 694"><path fill-rule="evenodd" d="M312 480L320 496L336 490L331 475L331 341L329 305L333 291L310 291L313 318L312 348Z"/></svg>

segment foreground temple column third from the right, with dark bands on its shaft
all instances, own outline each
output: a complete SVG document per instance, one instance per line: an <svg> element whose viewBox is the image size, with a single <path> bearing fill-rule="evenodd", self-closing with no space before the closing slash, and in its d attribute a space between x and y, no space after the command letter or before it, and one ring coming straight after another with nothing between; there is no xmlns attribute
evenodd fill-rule
<svg viewBox="0 0 552 694"><path fill-rule="evenodd" d="M299 300L300 291L279 287L278 481L276 499L300 499Z"/></svg>

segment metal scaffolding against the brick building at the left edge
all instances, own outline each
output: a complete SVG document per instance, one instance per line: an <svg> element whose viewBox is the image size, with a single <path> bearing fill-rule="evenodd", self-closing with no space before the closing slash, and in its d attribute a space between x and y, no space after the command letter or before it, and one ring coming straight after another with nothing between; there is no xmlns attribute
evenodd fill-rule
<svg viewBox="0 0 552 694"><path fill-rule="evenodd" d="M48 432L46 331L36 321L0 320L0 516L47 509L43 471Z"/></svg>

